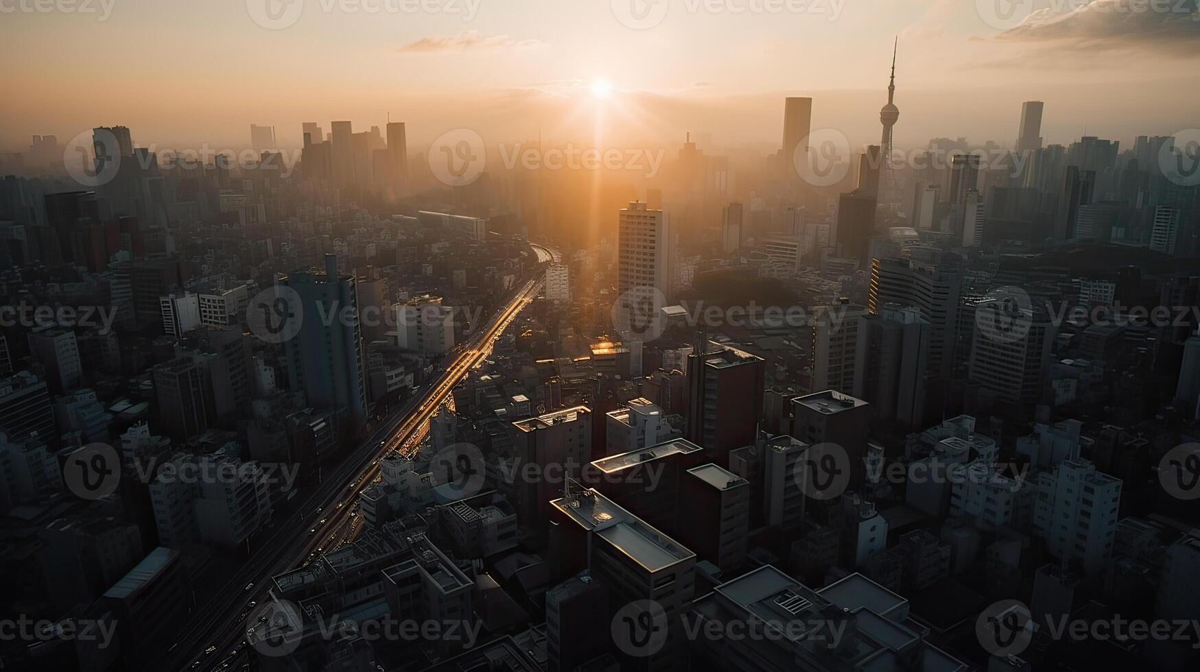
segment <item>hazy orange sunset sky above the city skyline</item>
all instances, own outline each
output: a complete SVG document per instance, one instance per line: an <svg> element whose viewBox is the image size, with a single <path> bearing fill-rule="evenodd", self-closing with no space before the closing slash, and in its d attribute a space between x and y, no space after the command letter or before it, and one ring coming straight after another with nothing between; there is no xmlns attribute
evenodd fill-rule
<svg viewBox="0 0 1200 672"><path fill-rule="evenodd" d="M1046 102L1046 142L1124 144L1200 126L1195 1L0 0L0 149L115 124L236 149L252 122L294 146L301 121L388 113L414 151L457 127L769 148L786 95L868 142L896 35L898 146L1010 144L1025 100Z"/></svg>

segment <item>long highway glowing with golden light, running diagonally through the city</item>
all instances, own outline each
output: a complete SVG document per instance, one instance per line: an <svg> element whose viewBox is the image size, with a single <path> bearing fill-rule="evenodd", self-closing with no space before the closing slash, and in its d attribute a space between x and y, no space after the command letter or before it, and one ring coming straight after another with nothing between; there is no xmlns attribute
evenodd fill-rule
<svg viewBox="0 0 1200 672"><path fill-rule="evenodd" d="M557 260L557 251L533 246L539 262ZM166 670L234 670L252 658L247 647L245 619L251 611L250 601L270 599L266 589L271 577L311 560L316 553L329 551L342 542L353 540L361 528L361 516L356 515L359 493L379 476L379 460L392 452L412 455L428 432L430 419L472 368L476 368L492 354L496 340L541 292L544 276L539 274L516 292L511 301L496 314L487 326L476 332L461 349L455 350L446 370L416 395L395 418L384 422L330 474L324 474L317 491L296 505L296 510L283 523L269 533L251 540L253 553L224 587L216 589L218 596L209 600L192 623L180 630L181 637L168 652ZM298 502L300 498L298 497ZM253 588L244 587L253 583ZM197 588L199 592L200 588ZM208 652L212 648L211 653ZM170 653L174 652L173 658ZM187 654L191 658L180 659Z"/></svg>

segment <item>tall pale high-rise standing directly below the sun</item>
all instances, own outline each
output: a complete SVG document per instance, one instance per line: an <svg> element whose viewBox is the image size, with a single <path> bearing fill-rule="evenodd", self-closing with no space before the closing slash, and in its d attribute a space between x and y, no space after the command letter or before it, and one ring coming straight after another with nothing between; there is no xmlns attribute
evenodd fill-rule
<svg viewBox="0 0 1200 672"><path fill-rule="evenodd" d="M671 298L671 229L666 212L640 202L620 211L617 264L617 290L622 296L634 290L637 298L653 300L658 289Z"/></svg>

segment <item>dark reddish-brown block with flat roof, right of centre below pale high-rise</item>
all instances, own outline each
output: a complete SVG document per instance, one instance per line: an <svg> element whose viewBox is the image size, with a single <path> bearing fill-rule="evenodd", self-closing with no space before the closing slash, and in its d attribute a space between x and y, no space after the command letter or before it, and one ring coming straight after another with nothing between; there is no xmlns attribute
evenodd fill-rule
<svg viewBox="0 0 1200 672"><path fill-rule="evenodd" d="M762 358L715 342L688 356L684 437L704 448L709 462L728 467L728 452L754 443L762 414Z"/></svg>

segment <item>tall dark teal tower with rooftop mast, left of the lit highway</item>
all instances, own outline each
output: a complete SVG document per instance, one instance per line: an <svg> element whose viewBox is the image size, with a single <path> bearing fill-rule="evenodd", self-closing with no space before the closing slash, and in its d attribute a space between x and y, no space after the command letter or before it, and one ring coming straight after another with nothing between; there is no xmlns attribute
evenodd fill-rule
<svg viewBox="0 0 1200 672"><path fill-rule="evenodd" d="M304 390L308 406L347 413L354 433L367 418L355 278L340 275L337 257L325 254L324 271L296 271L282 282L295 290L292 310L302 316L286 346L293 388ZM326 324L320 316L334 319Z"/></svg>

